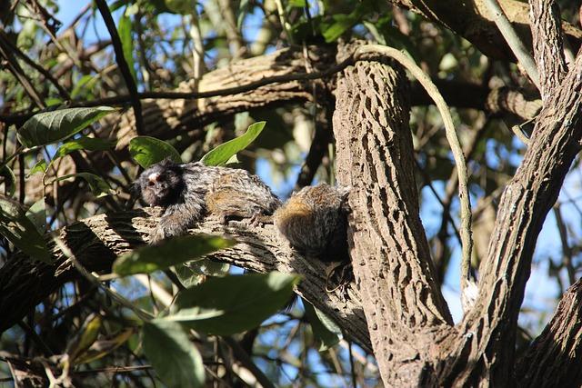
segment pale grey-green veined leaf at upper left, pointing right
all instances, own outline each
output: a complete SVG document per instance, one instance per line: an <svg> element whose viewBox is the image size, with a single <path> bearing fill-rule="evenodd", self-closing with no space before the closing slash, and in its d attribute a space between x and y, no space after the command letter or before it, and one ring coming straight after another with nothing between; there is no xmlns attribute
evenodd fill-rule
<svg viewBox="0 0 582 388"><path fill-rule="evenodd" d="M97 106L35 114L18 131L18 141L25 147L56 143L115 111L109 106Z"/></svg>

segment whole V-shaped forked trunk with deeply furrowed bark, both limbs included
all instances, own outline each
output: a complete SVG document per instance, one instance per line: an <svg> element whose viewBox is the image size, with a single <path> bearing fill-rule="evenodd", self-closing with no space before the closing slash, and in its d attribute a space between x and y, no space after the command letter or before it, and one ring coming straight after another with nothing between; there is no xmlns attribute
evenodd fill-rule
<svg viewBox="0 0 582 388"><path fill-rule="evenodd" d="M547 98L499 204L479 296L457 327L434 281L418 219L404 79L358 62L339 75L337 176L351 185L350 248L387 386L505 386L537 234L582 139L582 55Z"/></svg>

